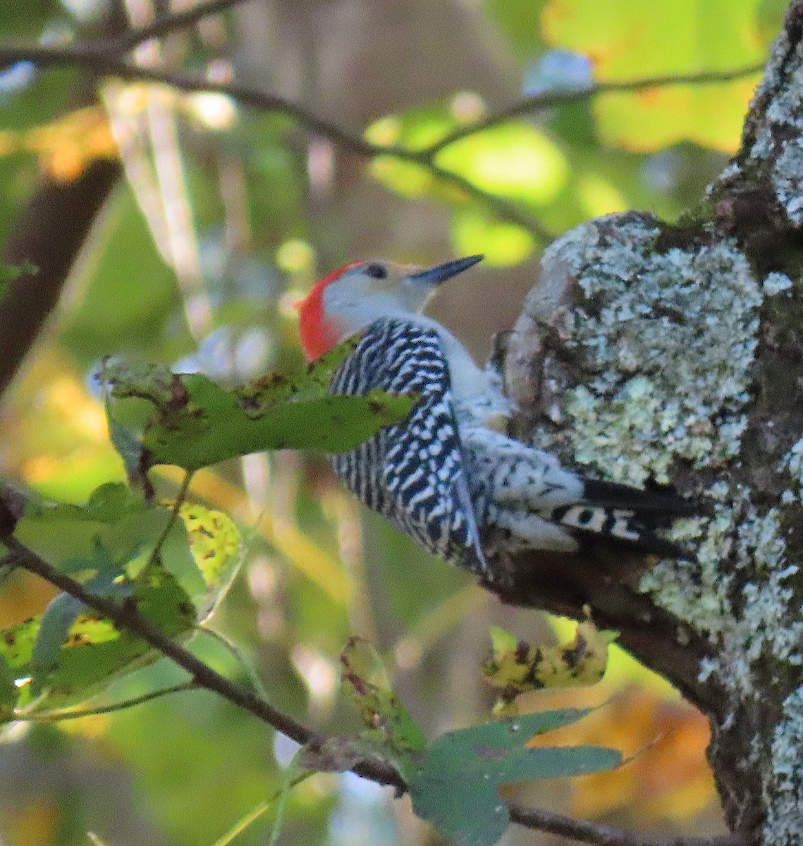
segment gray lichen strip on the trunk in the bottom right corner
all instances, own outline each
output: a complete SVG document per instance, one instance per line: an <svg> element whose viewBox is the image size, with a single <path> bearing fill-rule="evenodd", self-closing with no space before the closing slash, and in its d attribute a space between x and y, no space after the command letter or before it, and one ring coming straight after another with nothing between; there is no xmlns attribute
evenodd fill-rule
<svg viewBox="0 0 803 846"><path fill-rule="evenodd" d="M784 700L783 716L773 734L772 771L764 782L773 801L767 809L762 843L799 846L803 843L803 688Z"/></svg>

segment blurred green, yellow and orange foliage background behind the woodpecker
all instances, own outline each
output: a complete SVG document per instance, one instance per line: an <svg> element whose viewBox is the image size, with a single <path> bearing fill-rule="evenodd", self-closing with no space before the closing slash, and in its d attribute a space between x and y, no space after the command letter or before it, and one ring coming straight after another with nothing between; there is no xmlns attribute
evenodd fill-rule
<svg viewBox="0 0 803 846"><path fill-rule="evenodd" d="M0 0L0 40L69 44L167 9L164 0ZM250 0L135 57L234 77L357 138L420 149L552 87L760 63L783 12L781 0ZM585 98L468 135L434 162L481 190L469 194L426 163L369 161L293 118L219 94L108 80L96 99L76 69L4 69L3 243L42 179L78 179L97 157L119 157L125 178L3 396L0 475L74 503L124 480L92 381L104 356L137 355L226 383L289 371L302 361L294 301L357 258L426 264L484 252L487 261L432 306L484 357L537 281L544 231L629 208L674 220L701 201L738 146L756 80ZM165 469L155 481L170 496L179 477ZM247 547L212 629L239 646L274 704L328 732L358 728L339 695L338 652L351 634L377 644L431 736L487 718L493 696L479 667L490 624L545 643L555 629L566 634L565 624L501 607L366 514L325 460L248 456L199 473L191 496L231 514ZM40 613L51 597L14 574L0 589L0 626ZM216 640L200 638L195 649L242 677ZM522 788L520 799L637 830L719 831L705 720L614 653L602 684L529 695L523 707L600 704L566 742L617 746L633 760ZM180 678L163 661L111 693L140 695ZM74 722L15 724L0 742L0 843L87 843L95 832L109 846L212 844L278 788L293 753L205 691ZM267 842L271 822L256 821L237 842ZM296 788L280 840L437 842L407 799L350 774ZM504 842L552 840L511 829Z"/></svg>

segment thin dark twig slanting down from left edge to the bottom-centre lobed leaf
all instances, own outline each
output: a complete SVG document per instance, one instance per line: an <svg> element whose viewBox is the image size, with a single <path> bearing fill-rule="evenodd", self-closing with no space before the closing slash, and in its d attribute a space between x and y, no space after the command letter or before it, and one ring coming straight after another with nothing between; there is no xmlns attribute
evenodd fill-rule
<svg viewBox="0 0 803 846"><path fill-rule="evenodd" d="M223 696L224 699L233 702L234 705L244 708L245 711L250 711L255 717L259 717L263 722L267 722L279 732L294 739L296 743L306 744L312 739L316 739L317 735L311 728L294 720L289 714L279 711L278 708L274 708L253 690L216 673L212 667L208 667L200 658L184 649L184 646L165 634L157 625L152 624L149 619L143 617L131 602L121 604L108 599L107 596L91 594L86 591L84 585L81 585L80 582L59 573L58 569L53 567L52 564L47 563L43 558L36 555L36 552L25 547L14 537L3 538L3 545L18 553L18 566L20 568L40 576L85 605L95 608L118 628L127 629L138 635L147 644L161 652L162 655L171 658L179 667L184 667L199 686L213 690ZM393 766L381 761L361 761L354 767L354 772L379 784L392 785L400 791L406 789L404 781Z"/></svg>

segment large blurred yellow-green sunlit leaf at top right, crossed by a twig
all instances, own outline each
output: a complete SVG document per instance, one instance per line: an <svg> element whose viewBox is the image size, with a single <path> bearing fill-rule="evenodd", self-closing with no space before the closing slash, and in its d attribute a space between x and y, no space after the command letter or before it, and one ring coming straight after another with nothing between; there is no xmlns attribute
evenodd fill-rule
<svg viewBox="0 0 803 846"><path fill-rule="evenodd" d="M729 70L762 60L767 41L757 25L761 0L615 0L600 14L594 0L552 0L544 34L556 47L587 53L597 80ZM677 85L598 97L602 140L651 151L690 139L724 151L739 144L758 75L721 85Z"/></svg>

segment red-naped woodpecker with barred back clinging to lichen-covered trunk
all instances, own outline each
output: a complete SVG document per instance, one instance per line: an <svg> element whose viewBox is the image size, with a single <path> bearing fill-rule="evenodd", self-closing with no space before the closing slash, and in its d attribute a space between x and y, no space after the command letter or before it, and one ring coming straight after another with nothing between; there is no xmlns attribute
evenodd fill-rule
<svg viewBox="0 0 803 846"><path fill-rule="evenodd" d="M331 393L381 388L420 397L403 423L334 456L335 472L430 552L486 576L500 539L509 552L573 553L583 536L667 552L655 521L688 514L687 503L586 480L499 431L511 408L497 380L446 327L421 314L440 283L480 260L471 255L426 270L355 261L329 273L300 303L310 360L363 332Z"/></svg>

